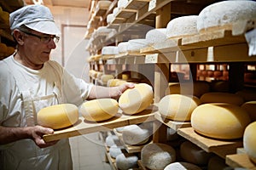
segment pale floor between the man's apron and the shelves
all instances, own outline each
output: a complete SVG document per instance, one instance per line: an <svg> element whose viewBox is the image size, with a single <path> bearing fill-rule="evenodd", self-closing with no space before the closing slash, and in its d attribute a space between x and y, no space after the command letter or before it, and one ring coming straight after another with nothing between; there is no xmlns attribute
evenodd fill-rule
<svg viewBox="0 0 256 170"><path fill-rule="evenodd" d="M99 133L70 138L73 170L111 170Z"/></svg>

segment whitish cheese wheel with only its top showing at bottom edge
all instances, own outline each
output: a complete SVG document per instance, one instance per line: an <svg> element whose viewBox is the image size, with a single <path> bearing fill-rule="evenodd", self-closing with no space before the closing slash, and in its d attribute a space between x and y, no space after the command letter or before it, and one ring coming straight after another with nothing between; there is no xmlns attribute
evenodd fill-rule
<svg viewBox="0 0 256 170"><path fill-rule="evenodd" d="M164 170L201 170L201 167L198 167L192 163L188 162L174 162L167 165Z"/></svg>

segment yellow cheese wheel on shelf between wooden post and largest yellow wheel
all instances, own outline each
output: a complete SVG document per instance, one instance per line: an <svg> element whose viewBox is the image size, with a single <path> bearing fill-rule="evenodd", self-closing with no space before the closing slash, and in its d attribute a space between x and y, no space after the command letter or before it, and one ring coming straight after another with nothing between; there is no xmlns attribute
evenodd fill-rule
<svg viewBox="0 0 256 170"><path fill-rule="evenodd" d="M159 102L158 108L162 116L173 121L190 121L192 111L201 105L201 100L195 96L181 94L166 95Z"/></svg>

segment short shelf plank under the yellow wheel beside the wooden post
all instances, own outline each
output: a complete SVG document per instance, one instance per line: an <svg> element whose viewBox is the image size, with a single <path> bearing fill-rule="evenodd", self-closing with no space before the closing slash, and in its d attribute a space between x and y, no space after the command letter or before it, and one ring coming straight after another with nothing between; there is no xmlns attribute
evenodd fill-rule
<svg viewBox="0 0 256 170"><path fill-rule="evenodd" d="M154 114L154 118L159 122L164 123L167 127L171 127L173 130L176 130L181 127L191 127L191 122L174 122L172 120L165 119L160 115L159 112Z"/></svg>

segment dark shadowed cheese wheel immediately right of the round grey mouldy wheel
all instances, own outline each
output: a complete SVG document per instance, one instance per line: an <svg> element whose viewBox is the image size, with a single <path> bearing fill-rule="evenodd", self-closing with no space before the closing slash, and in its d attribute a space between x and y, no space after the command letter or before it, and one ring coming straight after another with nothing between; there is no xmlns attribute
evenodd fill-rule
<svg viewBox="0 0 256 170"><path fill-rule="evenodd" d="M202 150L189 141L185 141L180 145L180 155L183 160L200 166L207 165L212 156L210 153L207 153L205 150Z"/></svg>

